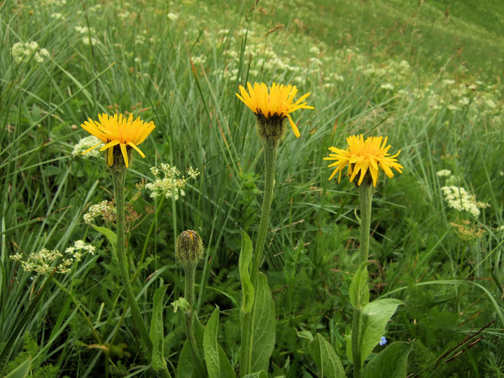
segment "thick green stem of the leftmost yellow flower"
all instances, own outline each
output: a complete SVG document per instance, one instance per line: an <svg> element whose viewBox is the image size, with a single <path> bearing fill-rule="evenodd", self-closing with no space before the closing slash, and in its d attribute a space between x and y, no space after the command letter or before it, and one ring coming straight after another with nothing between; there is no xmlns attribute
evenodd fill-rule
<svg viewBox="0 0 504 378"><path fill-rule="evenodd" d="M116 192L116 228L117 228L117 258L119 262L119 269L121 278L123 279L123 285L127 297L128 304L133 316L133 323L140 333L142 342L147 349L148 360L151 360L151 353L153 350L153 344L149 332L147 330L146 324L144 323L144 318L142 318L139 305L135 298L133 287L130 279L130 269L128 267L128 262L126 258L126 243L125 243L125 178L126 178L126 167L125 165L115 164L111 167L114 190ZM163 377L171 377L167 367L161 370Z"/></svg>

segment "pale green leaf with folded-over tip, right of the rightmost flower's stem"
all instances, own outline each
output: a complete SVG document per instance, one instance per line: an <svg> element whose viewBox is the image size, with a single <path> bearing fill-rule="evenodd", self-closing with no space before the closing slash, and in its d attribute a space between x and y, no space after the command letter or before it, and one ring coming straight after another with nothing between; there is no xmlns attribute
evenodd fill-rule
<svg viewBox="0 0 504 378"><path fill-rule="evenodd" d="M400 300L387 298L374 300L363 307L363 328L362 341L360 342L360 366L364 364L367 356L370 355L374 346L377 346L381 336L384 335L388 320L395 313Z"/></svg>

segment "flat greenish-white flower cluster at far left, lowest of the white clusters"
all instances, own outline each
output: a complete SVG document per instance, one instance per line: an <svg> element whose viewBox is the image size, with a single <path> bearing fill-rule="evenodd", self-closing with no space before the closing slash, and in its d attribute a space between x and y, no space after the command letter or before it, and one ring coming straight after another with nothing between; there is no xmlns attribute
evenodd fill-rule
<svg viewBox="0 0 504 378"><path fill-rule="evenodd" d="M21 253L16 253L9 257L12 260L19 261L26 272L44 274L55 270L56 273L67 273L70 272L74 261L80 261L86 253L94 255L95 251L96 248L91 244L77 240L73 243L73 246L65 249L64 254L57 250L51 251L47 248L42 248L40 251L29 255L27 260L22 260ZM53 262L57 258L62 258L62 262L59 265L54 265Z"/></svg>

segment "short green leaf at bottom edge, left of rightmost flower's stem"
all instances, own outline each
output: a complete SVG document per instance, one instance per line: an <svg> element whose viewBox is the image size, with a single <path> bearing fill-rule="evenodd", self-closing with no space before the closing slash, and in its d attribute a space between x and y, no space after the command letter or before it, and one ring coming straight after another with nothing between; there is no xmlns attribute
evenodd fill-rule
<svg viewBox="0 0 504 378"><path fill-rule="evenodd" d="M320 374L318 377L344 377L344 369L332 345L317 333L314 341L308 345L311 358L314 359Z"/></svg>

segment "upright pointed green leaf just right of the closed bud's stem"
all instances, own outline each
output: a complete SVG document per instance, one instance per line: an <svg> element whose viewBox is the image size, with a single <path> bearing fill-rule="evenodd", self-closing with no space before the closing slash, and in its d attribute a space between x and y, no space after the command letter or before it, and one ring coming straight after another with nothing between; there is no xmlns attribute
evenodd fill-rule
<svg viewBox="0 0 504 378"><path fill-rule="evenodd" d="M219 308L218 306L211 314L203 336L204 358L207 362L207 371L209 378L235 378L235 371L232 369L228 356L224 350L217 344L217 326L218 326Z"/></svg>

